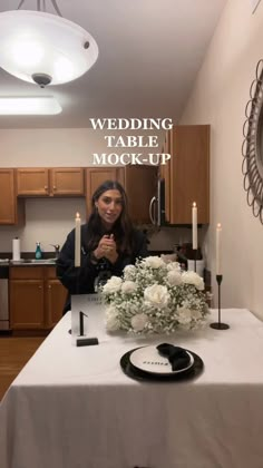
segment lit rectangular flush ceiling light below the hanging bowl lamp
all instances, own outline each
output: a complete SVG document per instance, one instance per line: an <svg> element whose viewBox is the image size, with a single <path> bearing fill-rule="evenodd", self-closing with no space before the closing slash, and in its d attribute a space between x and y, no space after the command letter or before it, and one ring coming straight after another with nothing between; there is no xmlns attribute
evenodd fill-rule
<svg viewBox="0 0 263 468"><path fill-rule="evenodd" d="M62 110L52 96L0 97L0 115L36 116L56 115Z"/></svg>

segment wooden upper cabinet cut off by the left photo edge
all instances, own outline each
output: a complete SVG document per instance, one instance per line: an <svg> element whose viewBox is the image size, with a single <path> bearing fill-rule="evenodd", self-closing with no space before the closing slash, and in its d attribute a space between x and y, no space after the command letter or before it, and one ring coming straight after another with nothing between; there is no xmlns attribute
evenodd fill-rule
<svg viewBox="0 0 263 468"><path fill-rule="evenodd" d="M17 199L14 169L0 169L0 224L23 224L25 203Z"/></svg>

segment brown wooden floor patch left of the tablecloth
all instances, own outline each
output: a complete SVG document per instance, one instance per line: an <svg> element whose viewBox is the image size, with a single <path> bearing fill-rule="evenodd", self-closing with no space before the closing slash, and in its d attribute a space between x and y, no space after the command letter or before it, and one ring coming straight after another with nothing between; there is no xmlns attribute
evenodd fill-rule
<svg viewBox="0 0 263 468"><path fill-rule="evenodd" d="M0 337L0 400L43 340L45 337Z"/></svg>

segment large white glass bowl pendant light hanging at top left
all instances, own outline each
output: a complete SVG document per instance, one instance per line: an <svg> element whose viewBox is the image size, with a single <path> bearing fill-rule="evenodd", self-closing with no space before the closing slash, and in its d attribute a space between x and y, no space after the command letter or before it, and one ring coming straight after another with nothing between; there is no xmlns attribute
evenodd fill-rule
<svg viewBox="0 0 263 468"><path fill-rule="evenodd" d="M72 81L95 64L98 46L80 26L57 14L18 10L0 13L0 67L40 87ZM46 9L43 0L43 9Z"/></svg>

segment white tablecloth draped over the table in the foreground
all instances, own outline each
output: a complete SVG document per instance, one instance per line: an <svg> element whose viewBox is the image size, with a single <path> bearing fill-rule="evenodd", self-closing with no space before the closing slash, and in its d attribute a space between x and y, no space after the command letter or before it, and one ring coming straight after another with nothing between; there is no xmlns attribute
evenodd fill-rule
<svg viewBox="0 0 263 468"><path fill-rule="evenodd" d="M99 345L77 348L65 315L1 403L1 468L262 468L263 323L237 309L222 320L230 330L136 339L108 335L99 313ZM164 341L197 353L204 372L124 374L126 351Z"/></svg>

